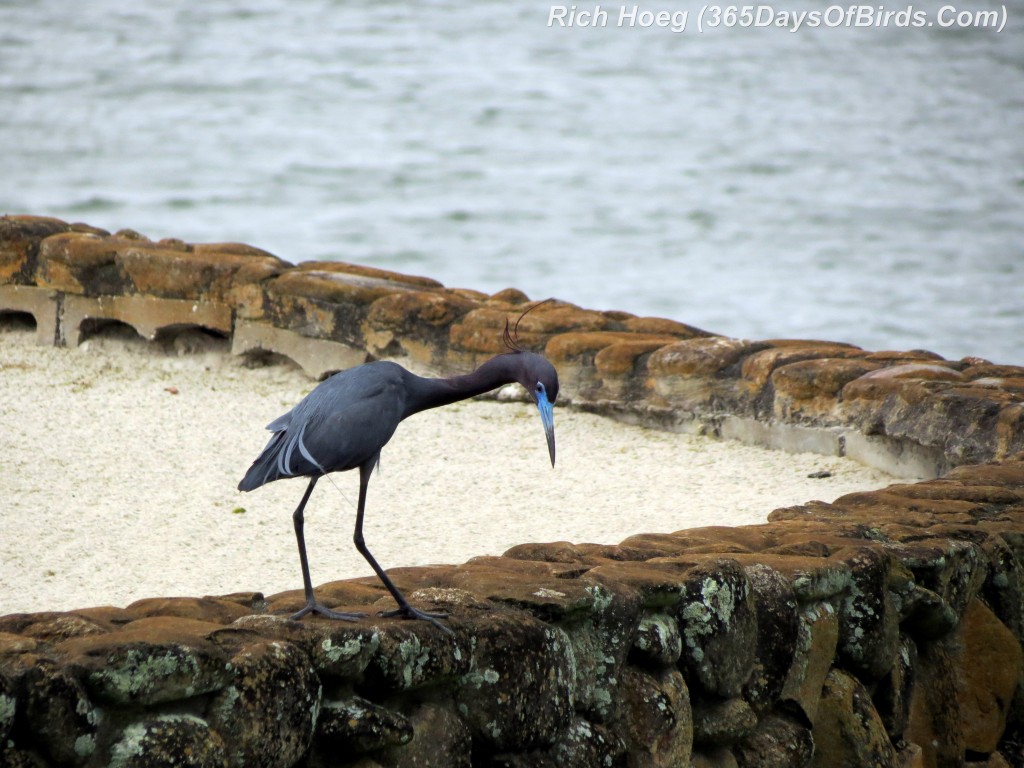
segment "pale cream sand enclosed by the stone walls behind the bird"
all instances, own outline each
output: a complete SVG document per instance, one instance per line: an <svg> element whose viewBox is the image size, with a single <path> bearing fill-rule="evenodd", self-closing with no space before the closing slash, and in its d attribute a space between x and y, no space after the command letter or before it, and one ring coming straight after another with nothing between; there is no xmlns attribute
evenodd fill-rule
<svg viewBox="0 0 1024 768"><path fill-rule="evenodd" d="M290 366L140 340L38 346L0 327L0 614L301 587L291 515L305 480L236 486L264 425L312 386ZM849 460L562 408L555 431L552 469L531 406L468 401L410 419L370 484L371 550L392 567L526 542L613 544L763 522L776 507L892 481ZM833 476L808 478L818 470ZM357 477L333 477L306 511L314 584L371 572L351 545Z"/></svg>

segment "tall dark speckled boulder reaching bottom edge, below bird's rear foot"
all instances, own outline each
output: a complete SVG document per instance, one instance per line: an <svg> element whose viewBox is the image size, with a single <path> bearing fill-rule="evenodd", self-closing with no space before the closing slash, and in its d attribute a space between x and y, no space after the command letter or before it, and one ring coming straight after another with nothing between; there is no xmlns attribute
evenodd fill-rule
<svg viewBox="0 0 1024 768"><path fill-rule="evenodd" d="M229 765L284 768L312 741L321 682L307 656L281 641L244 646L230 659L232 679L207 711L210 727L229 744Z"/></svg>

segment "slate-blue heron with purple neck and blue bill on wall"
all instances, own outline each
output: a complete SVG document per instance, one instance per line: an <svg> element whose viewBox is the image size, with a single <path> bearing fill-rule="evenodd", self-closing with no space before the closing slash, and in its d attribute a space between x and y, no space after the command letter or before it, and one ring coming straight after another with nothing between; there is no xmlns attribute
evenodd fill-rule
<svg viewBox="0 0 1024 768"><path fill-rule="evenodd" d="M518 325L517 321L516 330ZM305 605L292 620L298 621L309 613L342 621L357 621L366 615L332 610L316 599L303 535L304 510L316 481L332 472L357 469L359 496L352 541L398 605L381 615L426 621L451 633L438 621L447 614L410 605L370 552L362 536L367 488L380 462L381 450L404 419L515 382L526 389L540 412L551 466L555 466L553 407L558 398L558 373L543 355L521 348L517 333L509 332L507 322L504 339L506 352L464 375L425 378L390 360L374 360L341 371L325 379L295 408L267 425L273 435L239 483L239 490L254 490L289 477L308 478L305 493L292 514L305 596Z"/></svg>

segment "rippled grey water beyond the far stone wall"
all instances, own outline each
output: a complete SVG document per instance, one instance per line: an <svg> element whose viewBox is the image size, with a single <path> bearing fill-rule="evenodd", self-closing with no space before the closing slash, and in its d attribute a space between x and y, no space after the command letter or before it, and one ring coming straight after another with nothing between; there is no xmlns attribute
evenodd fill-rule
<svg viewBox="0 0 1024 768"><path fill-rule="evenodd" d="M1020 0L1001 32L150 6L0 0L0 212L1024 364Z"/></svg>

